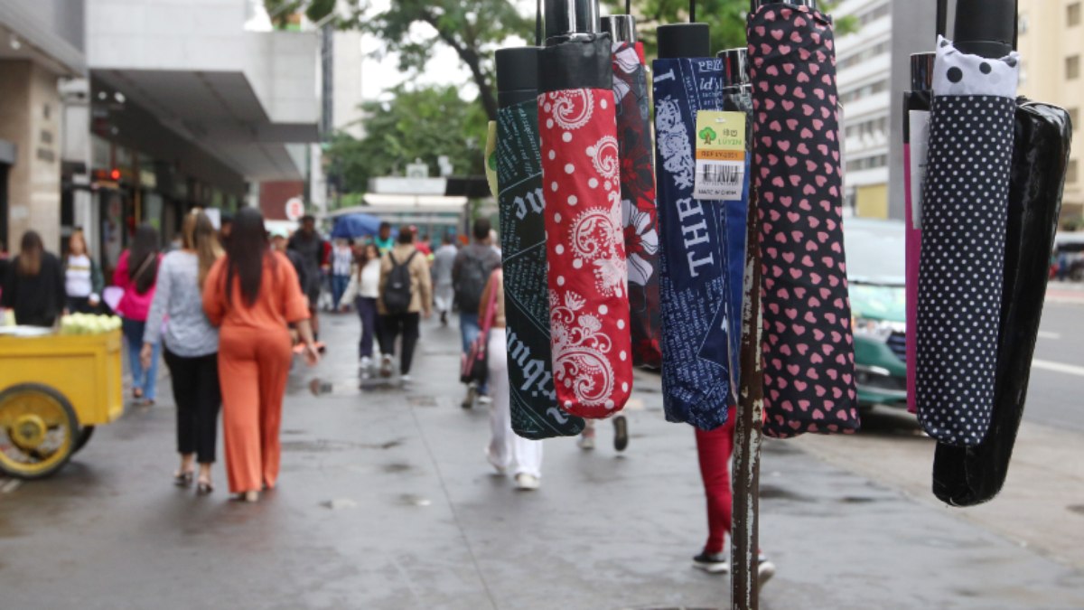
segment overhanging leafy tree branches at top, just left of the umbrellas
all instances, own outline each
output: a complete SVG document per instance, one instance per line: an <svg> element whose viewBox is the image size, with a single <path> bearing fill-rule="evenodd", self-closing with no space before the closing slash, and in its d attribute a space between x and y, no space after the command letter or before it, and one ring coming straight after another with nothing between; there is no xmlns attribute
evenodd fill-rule
<svg viewBox="0 0 1084 610"><path fill-rule="evenodd" d="M423 68L441 45L454 50L470 71L486 115L496 118L493 51L509 36L527 38L533 28L533 20L520 15L512 0L392 0L377 13L364 0L347 3L350 15L339 26L378 36L388 51L399 53L403 71Z"/></svg>

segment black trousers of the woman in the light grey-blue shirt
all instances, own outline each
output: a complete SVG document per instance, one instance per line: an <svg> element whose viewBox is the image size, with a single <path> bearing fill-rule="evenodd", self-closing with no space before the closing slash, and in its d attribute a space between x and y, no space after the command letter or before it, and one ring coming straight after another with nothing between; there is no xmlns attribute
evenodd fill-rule
<svg viewBox="0 0 1084 610"><path fill-rule="evenodd" d="M163 351L173 379L177 403L177 452L196 454L199 463L215 462L215 439L222 394L218 385L218 354L185 358Z"/></svg>

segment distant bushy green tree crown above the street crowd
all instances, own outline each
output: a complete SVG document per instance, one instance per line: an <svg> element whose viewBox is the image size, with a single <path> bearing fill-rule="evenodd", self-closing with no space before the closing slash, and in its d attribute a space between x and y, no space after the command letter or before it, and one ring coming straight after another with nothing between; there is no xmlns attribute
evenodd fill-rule
<svg viewBox="0 0 1084 610"><path fill-rule="evenodd" d="M448 155L457 175L483 173L487 118L479 104L462 100L451 86L399 86L389 93L389 101L362 104L363 139L336 134L324 153L343 192L365 191L370 178L401 176L417 158L437 176L440 155Z"/></svg>

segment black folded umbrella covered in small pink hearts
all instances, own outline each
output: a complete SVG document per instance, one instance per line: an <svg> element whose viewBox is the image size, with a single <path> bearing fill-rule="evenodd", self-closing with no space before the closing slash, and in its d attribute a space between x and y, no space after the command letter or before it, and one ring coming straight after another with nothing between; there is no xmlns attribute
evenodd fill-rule
<svg viewBox="0 0 1084 610"><path fill-rule="evenodd" d="M754 154L782 160L753 174L765 278L764 433L852 433L860 423L831 21L806 7L767 4L750 15L748 37ZM804 407L786 408L796 404Z"/></svg>

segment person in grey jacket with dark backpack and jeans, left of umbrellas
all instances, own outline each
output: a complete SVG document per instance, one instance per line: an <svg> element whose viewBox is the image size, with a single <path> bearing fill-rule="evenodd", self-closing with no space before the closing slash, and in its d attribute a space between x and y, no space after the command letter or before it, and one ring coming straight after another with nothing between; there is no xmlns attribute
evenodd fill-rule
<svg viewBox="0 0 1084 610"><path fill-rule="evenodd" d="M475 220L474 243L460 250L452 264L452 287L455 289L455 302L460 306L460 334L463 336L463 353L470 350L470 344L478 338L481 327L478 325L478 305L481 293L490 274L501 264L501 255L493 250L490 238L491 226L488 219ZM489 404L488 389L485 384L476 387L467 386L467 395L463 398L463 408L474 406L477 394L478 402Z"/></svg>

